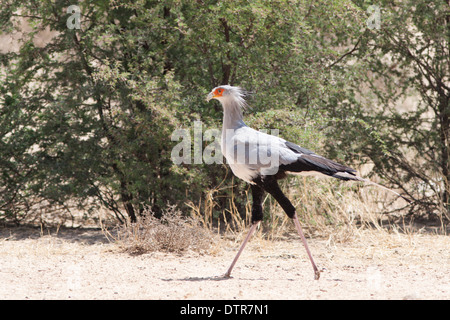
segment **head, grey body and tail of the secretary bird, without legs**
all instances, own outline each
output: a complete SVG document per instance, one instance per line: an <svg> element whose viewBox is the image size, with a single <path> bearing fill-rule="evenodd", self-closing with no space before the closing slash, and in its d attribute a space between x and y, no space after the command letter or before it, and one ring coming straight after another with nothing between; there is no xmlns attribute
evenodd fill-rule
<svg viewBox="0 0 450 320"><path fill-rule="evenodd" d="M214 94L220 90L220 96ZM272 173L282 178L285 174L326 175L340 180L361 181L399 193L356 175L356 170L315 154L313 151L248 127L243 121L243 109L248 107L245 91L223 85L214 88L207 100L217 99L223 106L222 153L233 173L249 183ZM277 158L276 158L277 157ZM264 163L261 158L270 158ZM252 161L253 160L253 161Z"/></svg>

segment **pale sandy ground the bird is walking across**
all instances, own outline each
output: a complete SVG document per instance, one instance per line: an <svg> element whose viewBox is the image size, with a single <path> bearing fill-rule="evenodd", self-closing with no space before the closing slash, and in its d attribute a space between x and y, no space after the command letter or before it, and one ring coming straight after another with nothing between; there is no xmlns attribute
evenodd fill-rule
<svg viewBox="0 0 450 320"><path fill-rule="evenodd" d="M131 256L99 230L0 228L0 299L450 299L450 237L366 231L348 243L255 238L213 254Z"/></svg>

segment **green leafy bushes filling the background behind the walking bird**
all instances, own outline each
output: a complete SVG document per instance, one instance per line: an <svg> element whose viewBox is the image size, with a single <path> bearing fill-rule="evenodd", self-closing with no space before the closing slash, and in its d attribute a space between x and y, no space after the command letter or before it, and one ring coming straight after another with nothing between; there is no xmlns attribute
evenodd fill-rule
<svg viewBox="0 0 450 320"><path fill-rule="evenodd" d="M69 29L69 5L81 29ZM369 5L381 8L371 29ZM446 1L0 0L0 219L100 207L119 220L214 193L245 214L225 165L174 165L177 128L220 128L206 94L252 92L247 123L354 166L448 219ZM24 27L26 25L26 28ZM26 31L24 31L26 29ZM45 43L37 39L52 33ZM413 97L414 108L398 106ZM287 184L291 183L290 181ZM295 183L295 182L294 182ZM221 187L230 186L233 188ZM226 215L225 219L226 219Z"/></svg>

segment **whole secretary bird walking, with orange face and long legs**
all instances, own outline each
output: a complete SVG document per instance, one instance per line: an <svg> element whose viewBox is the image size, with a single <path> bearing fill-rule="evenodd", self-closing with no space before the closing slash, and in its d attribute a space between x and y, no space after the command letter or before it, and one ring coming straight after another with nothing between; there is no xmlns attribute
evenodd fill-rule
<svg viewBox="0 0 450 320"><path fill-rule="evenodd" d="M314 279L318 280L320 271L308 248L308 243L298 221L295 208L281 191L277 180L286 177L287 174L320 174L341 180L364 181L389 190L402 198L403 196L393 190L358 177L355 174L356 170L352 168L321 157L280 137L248 127L245 125L242 115L243 109L247 107L244 98L245 92L241 88L230 85L214 88L206 98L208 102L211 99L216 99L222 104L222 153L233 173L238 178L250 183L253 196L252 225L224 277L230 277L231 271L245 245L262 221L263 197L265 192L268 192L280 204L288 217L294 221L296 230L314 269Z"/></svg>

